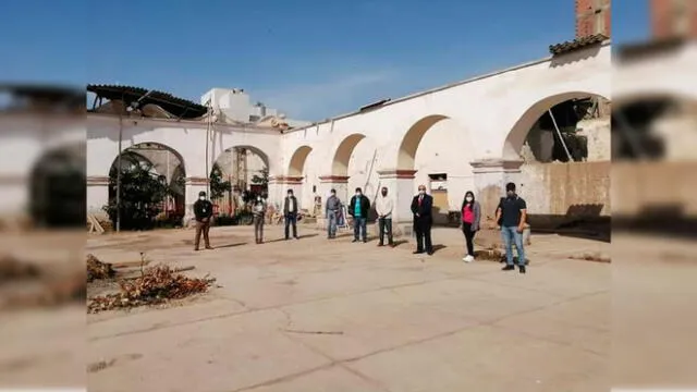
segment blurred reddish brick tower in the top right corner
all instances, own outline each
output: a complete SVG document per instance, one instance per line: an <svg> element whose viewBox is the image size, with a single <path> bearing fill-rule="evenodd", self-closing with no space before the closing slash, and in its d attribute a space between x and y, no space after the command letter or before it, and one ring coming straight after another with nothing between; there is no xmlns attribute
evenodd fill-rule
<svg viewBox="0 0 697 392"><path fill-rule="evenodd" d="M697 38L697 1L651 0L650 12L655 38Z"/></svg>

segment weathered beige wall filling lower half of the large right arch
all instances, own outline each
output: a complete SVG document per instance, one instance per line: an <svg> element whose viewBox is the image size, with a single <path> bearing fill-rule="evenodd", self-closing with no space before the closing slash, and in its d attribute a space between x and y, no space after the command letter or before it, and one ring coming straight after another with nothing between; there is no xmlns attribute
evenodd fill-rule
<svg viewBox="0 0 697 392"><path fill-rule="evenodd" d="M524 164L518 193L538 224L609 217L610 168L610 161Z"/></svg>

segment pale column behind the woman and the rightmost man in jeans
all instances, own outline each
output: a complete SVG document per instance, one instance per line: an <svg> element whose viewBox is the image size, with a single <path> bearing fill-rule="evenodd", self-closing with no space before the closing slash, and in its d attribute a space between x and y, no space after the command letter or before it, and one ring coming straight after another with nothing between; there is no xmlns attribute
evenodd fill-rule
<svg viewBox="0 0 697 392"><path fill-rule="evenodd" d="M499 199L505 196L505 184L515 183L521 191L522 160L487 159L470 162L475 176L475 197L481 205L482 222L494 218Z"/></svg>

